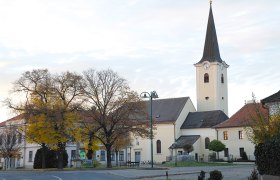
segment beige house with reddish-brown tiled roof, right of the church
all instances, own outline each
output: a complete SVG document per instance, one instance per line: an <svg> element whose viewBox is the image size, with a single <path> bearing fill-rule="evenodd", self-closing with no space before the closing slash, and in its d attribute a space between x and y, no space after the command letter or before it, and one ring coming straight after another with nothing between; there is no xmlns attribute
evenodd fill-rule
<svg viewBox="0 0 280 180"><path fill-rule="evenodd" d="M255 160L255 145L250 141L250 125L253 123L252 118L256 117L256 108L267 114L267 109L260 103L249 101L228 120L215 126L217 139L226 145L220 158L237 160L242 159L246 153L249 160Z"/></svg>

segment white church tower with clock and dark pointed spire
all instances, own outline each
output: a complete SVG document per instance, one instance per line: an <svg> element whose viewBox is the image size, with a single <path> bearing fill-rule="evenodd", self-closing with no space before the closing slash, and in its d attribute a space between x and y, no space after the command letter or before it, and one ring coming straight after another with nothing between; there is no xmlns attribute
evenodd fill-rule
<svg viewBox="0 0 280 180"><path fill-rule="evenodd" d="M211 1L203 56L194 66L196 67L197 111L222 110L228 115L227 68L229 65L220 57Z"/></svg>

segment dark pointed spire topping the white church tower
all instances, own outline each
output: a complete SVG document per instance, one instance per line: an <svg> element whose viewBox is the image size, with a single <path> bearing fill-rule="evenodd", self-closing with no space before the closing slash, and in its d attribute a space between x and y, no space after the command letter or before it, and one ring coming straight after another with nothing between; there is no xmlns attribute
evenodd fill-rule
<svg viewBox="0 0 280 180"><path fill-rule="evenodd" d="M220 63L223 62L223 60L220 57L219 44L212 13L212 1L210 1L210 11L206 30L203 57L198 63L202 63L203 61Z"/></svg>

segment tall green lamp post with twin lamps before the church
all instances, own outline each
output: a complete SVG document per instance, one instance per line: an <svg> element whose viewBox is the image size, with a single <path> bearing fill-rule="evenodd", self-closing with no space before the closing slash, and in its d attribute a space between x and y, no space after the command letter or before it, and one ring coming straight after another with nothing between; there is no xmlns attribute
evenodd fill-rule
<svg viewBox="0 0 280 180"><path fill-rule="evenodd" d="M152 91L150 93L148 92L142 92L140 94L140 97L142 98L149 98L150 99L150 139L151 139L151 165L152 168L154 167L154 156L153 156L153 99L158 98L157 92Z"/></svg>

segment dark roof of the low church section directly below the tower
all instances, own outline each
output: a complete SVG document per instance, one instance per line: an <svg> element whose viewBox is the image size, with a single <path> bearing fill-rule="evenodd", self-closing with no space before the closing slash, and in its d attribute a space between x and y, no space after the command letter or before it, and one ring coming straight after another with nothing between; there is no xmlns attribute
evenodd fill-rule
<svg viewBox="0 0 280 180"><path fill-rule="evenodd" d="M190 112L181 129L211 128L227 119L228 116L221 110Z"/></svg>

